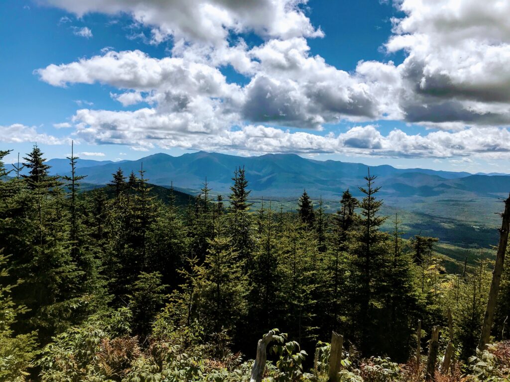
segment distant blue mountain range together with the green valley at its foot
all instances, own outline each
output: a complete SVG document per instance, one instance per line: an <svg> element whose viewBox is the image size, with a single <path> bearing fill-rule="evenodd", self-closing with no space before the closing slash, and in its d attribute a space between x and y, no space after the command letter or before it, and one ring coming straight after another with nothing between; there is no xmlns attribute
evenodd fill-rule
<svg viewBox="0 0 510 382"><path fill-rule="evenodd" d="M50 159L50 172L69 175L68 159ZM444 242L465 248L488 248L497 242L500 217L499 198L510 191L510 176L470 174L467 172L428 169L397 169L392 166L371 166L336 160L314 160L294 154L266 154L241 157L220 153L196 152L181 156L163 153L138 160L119 162L78 159L77 173L85 175L86 188L107 184L119 168L125 176L137 173L143 166L149 183L187 194L197 194L206 178L212 193L230 194L236 168L246 170L250 196L258 208L262 197L295 209L303 189L315 200L322 198L328 212L338 209L338 202L347 188L361 197L359 186L370 170L376 175L378 196L384 199L381 213L398 213L402 228L411 236L422 233L439 237ZM84 184L85 186L85 184ZM157 189L164 195L164 189ZM185 194L182 200L189 200ZM386 228L391 230L389 219Z"/></svg>

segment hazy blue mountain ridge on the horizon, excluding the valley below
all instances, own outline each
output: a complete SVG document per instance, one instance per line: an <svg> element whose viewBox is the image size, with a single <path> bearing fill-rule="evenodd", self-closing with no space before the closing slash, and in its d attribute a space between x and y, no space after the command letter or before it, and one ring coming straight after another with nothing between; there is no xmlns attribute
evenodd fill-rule
<svg viewBox="0 0 510 382"><path fill-rule="evenodd" d="M48 161L50 165L59 165L52 169L53 173L64 174L62 161L68 160ZM89 183L106 184L118 168L127 176L132 171L138 172L142 163L145 176L151 183L168 186L173 182L174 186L193 192L200 189L207 178L213 191L221 194L230 193L234 170L244 166L252 196L274 197L296 197L303 188L315 198L338 199L347 188L358 195L358 186L364 184L363 177L368 172L368 166L362 163L320 161L294 154L240 157L200 151L177 157L159 153L121 162L84 160L80 163L78 173L86 175ZM381 195L393 198L458 199L475 195L501 195L510 190L510 176L396 169L388 165L370 167L370 173L378 176L377 184L382 186Z"/></svg>

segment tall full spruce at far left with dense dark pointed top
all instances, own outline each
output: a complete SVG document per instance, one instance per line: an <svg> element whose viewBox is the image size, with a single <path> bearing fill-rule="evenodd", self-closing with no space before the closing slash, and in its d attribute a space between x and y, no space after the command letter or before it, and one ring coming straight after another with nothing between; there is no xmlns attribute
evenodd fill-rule
<svg viewBox="0 0 510 382"><path fill-rule="evenodd" d="M27 306L30 315L22 315L18 324L23 331L38 330L41 343L57 331L79 322L80 306L87 297L81 288L83 271L71 256L70 219L65 193L59 182L48 174L42 152L35 146L24 159L30 169L23 180L13 179L18 189L6 196L7 205L18 205L17 233L8 233L12 274L23 282L16 288L15 303ZM18 241L16 236L22 236Z"/></svg>

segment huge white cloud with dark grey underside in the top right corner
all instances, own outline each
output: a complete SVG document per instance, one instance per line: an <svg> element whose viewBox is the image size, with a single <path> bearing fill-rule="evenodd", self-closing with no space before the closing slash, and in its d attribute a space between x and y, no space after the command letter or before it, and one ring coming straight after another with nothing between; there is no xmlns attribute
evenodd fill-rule
<svg viewBox="0 0 510 382"><path fill-rule="evenodd" d="M401 0L386 48L404 50L399 103L411 122L510 123L510 3ZM476 105L476 107L473 107Z"/></svg>

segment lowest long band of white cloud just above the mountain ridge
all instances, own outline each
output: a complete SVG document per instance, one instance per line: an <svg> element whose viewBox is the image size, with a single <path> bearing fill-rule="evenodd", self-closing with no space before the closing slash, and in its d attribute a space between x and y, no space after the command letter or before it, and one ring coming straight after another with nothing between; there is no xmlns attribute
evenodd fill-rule
<svg viewBox="0 0 510 382"><path fill-rule="evenodd" d="M143 116L138 115L143 113ZM199 126L145 109L143 112L81 110L74 117L78 135L91 144L121 144L134 150L154 147L196 150L236 150L249 153L342 153L381 157L449 158L475 155L510 159L510 131L498 127L472 127L461 131L407 134L400 129L382 135L376 126L355 126L338 135L290 132L262 125L240 129Z"/></svg>

